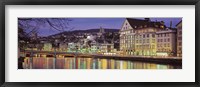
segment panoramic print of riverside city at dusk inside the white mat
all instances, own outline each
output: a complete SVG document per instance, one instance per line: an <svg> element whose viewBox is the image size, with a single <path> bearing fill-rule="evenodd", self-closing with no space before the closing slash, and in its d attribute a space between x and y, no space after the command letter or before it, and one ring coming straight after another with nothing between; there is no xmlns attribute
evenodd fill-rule
<svg viewBox="0 0 200 87"><path fill-rule="evenodd" d="M20 30L18 32L20 59L18 62L21 64L19 68L182 68L182 18L105 18L109 24L102 21L102 18L80 18L84 21L79 21L80 23L76 23L78 18L73 19L74 23L77 26L82 25L82 28L64 30L69 26L62 25L66 23L61 22L67 19L56 18L52 20L57 23L52 21L50 23L52 25L48 26L49 29L59 31L53 34L48 34L48 30L41 30L41 26L35 26L32 31L26 30L29 28L27 26L34 26L31 23L37 22L35 20L48 23L46 19L30 19L32 22L27 23L30 25L24 25L24 22L27 21L18 19L21 23L18 25ZM157 21L157 19L162 20ZM176 21L171 21L172 19ZM119 21L119 24L116 23L116 20ZM84 28L97 23L108 26ZM112 27L116 29L112 29Z"/></svg>

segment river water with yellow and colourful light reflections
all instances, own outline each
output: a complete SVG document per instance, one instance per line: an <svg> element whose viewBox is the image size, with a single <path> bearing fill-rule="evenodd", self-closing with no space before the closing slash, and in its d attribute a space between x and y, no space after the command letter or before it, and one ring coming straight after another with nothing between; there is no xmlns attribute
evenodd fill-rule
<svg viewBox="0 0 200 87"><path fill-rule="evenodd" d="M33 69L181 69L181 66L124 61L115 59L94 59L94 58L33 58ZM30 67L29 58L23 63L23 67Z"/></svg>

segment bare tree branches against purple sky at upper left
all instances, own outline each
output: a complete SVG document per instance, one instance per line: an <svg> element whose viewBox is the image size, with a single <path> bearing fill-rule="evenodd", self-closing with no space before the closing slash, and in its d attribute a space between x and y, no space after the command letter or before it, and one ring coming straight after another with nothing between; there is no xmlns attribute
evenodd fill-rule
<svg viewBox="0 0 200 87"><path fill-rule="evenodd" d="M19 41L29 42L35 46L39 43L37 34L40 27L48 26L49 29L63 32L65 29L70 28L70 21L68 18L18 18ZM31 37L33 34L36 34L36 38ZM24 44L20 43L20 45Z"/></svg>

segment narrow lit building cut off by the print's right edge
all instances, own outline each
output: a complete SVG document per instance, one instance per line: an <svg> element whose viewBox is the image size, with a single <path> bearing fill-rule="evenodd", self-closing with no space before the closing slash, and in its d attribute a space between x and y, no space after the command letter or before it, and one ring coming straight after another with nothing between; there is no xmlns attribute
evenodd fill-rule
<svg viewBox="0 0 200 87"><path fill-rule="evenodd" d="M177 25L177 56L182 56L182 21Z"/></svg>

